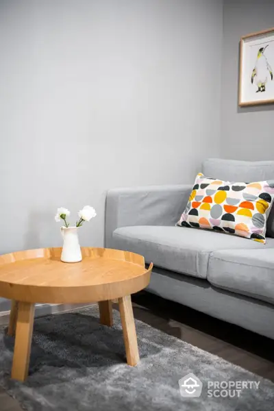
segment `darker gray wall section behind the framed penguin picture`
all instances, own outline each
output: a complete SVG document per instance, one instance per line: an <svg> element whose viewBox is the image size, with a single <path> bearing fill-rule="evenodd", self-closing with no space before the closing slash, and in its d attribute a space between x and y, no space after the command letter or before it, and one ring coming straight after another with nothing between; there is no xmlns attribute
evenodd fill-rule
<svg viewBox="0 0 274 411"><path fill-rule="evenodd" d="M274 105L238 108L240 37L274 26L273 0L225 0L221 87L221 156L273 160Z"/></svg>

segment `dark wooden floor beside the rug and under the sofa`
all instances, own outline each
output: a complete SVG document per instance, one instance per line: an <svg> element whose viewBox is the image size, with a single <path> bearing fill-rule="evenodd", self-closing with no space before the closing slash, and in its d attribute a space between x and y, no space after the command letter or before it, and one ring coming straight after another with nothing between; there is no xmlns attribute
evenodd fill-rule
<svg viewBox="0 0 274 411"><path fill-rule="evenodd" d="M274 382L273 340L147 292L132 301L136 319ZM1 388L0 410L23 411Z"/></svg>

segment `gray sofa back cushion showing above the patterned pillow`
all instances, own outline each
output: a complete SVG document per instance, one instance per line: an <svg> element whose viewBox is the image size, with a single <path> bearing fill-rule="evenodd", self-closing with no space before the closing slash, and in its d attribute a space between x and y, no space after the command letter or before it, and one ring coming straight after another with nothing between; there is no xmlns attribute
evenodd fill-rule
<svg viewBox="0 0 274 411"><path fill-rule="evenodd" d="M274 161L240 161L208 158L203 174L230 182L259 182L274 179ZM266 236L274 238L274 206L266 223Z"/></svg>

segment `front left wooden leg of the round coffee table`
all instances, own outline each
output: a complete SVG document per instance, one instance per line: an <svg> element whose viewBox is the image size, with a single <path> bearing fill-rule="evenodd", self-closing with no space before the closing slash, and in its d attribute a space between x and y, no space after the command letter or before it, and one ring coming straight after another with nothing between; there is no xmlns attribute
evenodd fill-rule
<svg viewBox="0 0 274 411"><path fill-rule="evenodd" d="M29 371L29 356L34 328L34 304L18 302L18 319L12 362L12 378L24 382Z"/></svg>

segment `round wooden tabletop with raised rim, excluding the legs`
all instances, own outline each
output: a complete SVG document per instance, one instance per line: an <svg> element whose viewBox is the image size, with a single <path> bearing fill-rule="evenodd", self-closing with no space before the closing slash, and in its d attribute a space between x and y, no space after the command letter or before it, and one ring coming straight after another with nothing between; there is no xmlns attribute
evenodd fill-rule
<svg viewBox="0 0 274 411"><path fill-rule="evenodd" d="M82 247L82 262L60 261L62 248L0 256L0 297L28 303L88 303L131 295L149 284L152 264L129 251Z"/></svg>

